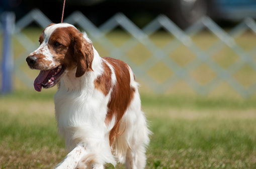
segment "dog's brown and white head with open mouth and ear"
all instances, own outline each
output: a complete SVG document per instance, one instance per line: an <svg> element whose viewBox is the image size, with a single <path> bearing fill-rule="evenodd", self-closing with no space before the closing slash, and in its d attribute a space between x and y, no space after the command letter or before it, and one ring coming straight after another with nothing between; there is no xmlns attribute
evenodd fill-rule
<svg viewBox="0 0 256 169"><path fill-rule="evenodd" d="M30 68L41 70L34 82L37 91L57 84L68 70L76 68L75 76L80 77L92 69L92 41L73 25L52 23L43 30L39 42L26 58Z"/></svg>

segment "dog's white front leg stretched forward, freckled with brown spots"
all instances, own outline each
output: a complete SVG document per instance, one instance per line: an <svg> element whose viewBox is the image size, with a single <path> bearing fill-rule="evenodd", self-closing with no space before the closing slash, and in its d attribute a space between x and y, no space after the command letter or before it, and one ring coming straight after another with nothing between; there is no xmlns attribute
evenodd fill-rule
<svg viewBox="0 0 256 169"><path fill-rule="evenodd" d="M78 163L81 158L86 154L86 148L83 145L78 144L71 152L67 154L65 159L56 166L56 169L79 168Z"/></svg>

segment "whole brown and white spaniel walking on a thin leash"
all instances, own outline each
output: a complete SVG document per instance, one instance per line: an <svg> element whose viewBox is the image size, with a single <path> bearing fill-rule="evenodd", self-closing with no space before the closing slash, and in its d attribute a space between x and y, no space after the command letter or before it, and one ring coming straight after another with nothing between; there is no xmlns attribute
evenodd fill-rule
<svg viewBox="0 0 256 169"><path fill-rule="evenodd" d="M58 86L55 115L69 153L57 168L104 168L116 161L144 168L150 131L131 67L100 57L87 34L68 23L50 24L39 42L26 61L41 70L35 90Z"/></svg>

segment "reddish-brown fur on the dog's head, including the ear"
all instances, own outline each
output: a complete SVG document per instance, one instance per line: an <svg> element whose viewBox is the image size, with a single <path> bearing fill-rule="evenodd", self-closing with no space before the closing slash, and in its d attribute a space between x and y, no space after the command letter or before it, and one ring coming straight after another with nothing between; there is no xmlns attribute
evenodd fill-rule
<svg viewBox="0 0 256 169"><path fill-rule="evenodd" d="M44 40L44 31L45 29L39 37L40 44ZM60 45L55 45L56 42L59 42ZM80 77L88 69L92 70L93 44L91 41L87 41L76 28L72 26L56 28L49 37L47 46L53 55L55 65L64 65L69 70L77 66L76 77ZM42 54L34 54L38 58L37 65L48 65L48 69L53 68L49 66L51 62L47 62L43 59L44 56L40 55ZM35 65L36 69L41 69L37 65Z"/></svg>

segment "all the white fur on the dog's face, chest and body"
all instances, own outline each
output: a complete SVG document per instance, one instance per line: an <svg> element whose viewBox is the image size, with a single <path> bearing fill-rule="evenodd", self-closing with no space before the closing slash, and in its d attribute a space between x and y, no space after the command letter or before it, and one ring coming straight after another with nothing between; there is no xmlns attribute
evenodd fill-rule
<svg viewBox="0 0 256 169"><path fill-rule="evenodd" d="M68 26L55 24L45 30L47 39L55 28ZM91 43L87 34L84 40ZM43 48L43 47L42 47ZM34 52L38 52L39 49ZM52 56L44 51L45 59ZM105 60L106 61L106 60ZM149 143L146 118L141 111L138 83L133 78L129 67L130 85L135 88L133 100L120 122L120 131L124 132L110 146L109 132L115 124L115 116L109 124L105 123L108 102L115 85L104 95L95 88L95 79L104 72L103 58L94 48L93 71L86 71L81 77L75 77L76 67L65 70L60 79L59 89L54 95L55 115L60 134L65 138L66 158L56 167L60 168L104 168L105 163L116 165L117 161L126 162L127 168L144 168L146 164L145 147ZM106 61L111 69L112 83L117 82L114 67ZM54 64L54 61L53 61Z"/></svg>

